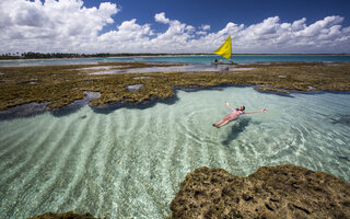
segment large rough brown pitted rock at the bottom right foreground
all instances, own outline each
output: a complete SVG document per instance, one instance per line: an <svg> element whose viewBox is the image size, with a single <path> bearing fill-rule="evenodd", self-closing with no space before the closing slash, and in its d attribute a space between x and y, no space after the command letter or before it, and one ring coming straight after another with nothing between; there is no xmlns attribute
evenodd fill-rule
<svg viewBox="0 0 350 219"><path fill-rule="evenodd" d="M186 175L171 209L173 218L350 218L350 184L290 164L248 177L199 168Z"/></svg>

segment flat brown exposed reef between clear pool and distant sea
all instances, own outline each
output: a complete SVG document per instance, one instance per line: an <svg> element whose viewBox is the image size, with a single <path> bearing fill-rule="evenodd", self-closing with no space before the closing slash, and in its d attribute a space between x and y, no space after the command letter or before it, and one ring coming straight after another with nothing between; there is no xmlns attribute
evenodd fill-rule
<svg viewBox="0 0 350 219"><path fill-rule="evenodd" d="M184 87L252 84L258 85L259 90L281 93L288 93L288 90L350 91L350 64L278 62L236 65L234 71L125 72L126 69L174 66L178 65L106 62L0 67L0 111L32 102L58 108L84 99L84 92L101 93L90 103L103 105L164 100L174 96L174 88ZM118 73L104 74L106 68ZM91 74L93 72L95 74ZM128 87L135 84L143 87L129 92Z"/></svg>

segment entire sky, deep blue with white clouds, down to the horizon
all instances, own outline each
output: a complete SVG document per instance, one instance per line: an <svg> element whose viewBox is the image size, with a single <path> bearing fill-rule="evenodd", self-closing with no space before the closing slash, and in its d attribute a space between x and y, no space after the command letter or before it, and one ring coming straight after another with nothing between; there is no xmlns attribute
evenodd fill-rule
<svg viewBox="0 0 350 219"><path fill-rule="evenodd" d="M0 54L350 53L349 0L0 0Z"/></svg>

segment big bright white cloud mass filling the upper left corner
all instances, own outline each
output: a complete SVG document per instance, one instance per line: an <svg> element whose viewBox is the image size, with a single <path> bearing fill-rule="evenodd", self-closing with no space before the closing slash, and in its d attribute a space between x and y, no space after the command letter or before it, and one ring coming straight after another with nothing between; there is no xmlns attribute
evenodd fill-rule
<svg viewBox="0 0 350 219"><path fill-rule="evenodd" d="M40 0L2 0L0 43L10 43L9 50L49 51L48 45L67 47L60 50L79 49L72 46L96 37L106 24L114 22L112 15L118 11L117 5L109 2L85 8L82 0L46 0L44 3ZM16 48L24 42L28 44L26 48Z"/></svg>

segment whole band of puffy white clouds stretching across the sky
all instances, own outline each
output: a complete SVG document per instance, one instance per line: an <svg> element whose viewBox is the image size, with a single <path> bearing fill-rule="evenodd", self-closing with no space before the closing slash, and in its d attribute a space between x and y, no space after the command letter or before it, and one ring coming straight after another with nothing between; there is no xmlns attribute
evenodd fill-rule
<svg viewBox="0 0 350 219"><path fill-rule="evenodd" d="M232 36L233 53L349 53L350 27L343 18L326 16L312 24L306 18L281 22L279 16L244 25L229 22L211 32L209 24L194 25L154 14L167 26L155 32L137 18L110 31L115 3L86 8L82 0L1 0L0 53L211 53ZM117 18L117 16L116 16Z"/></svg>

